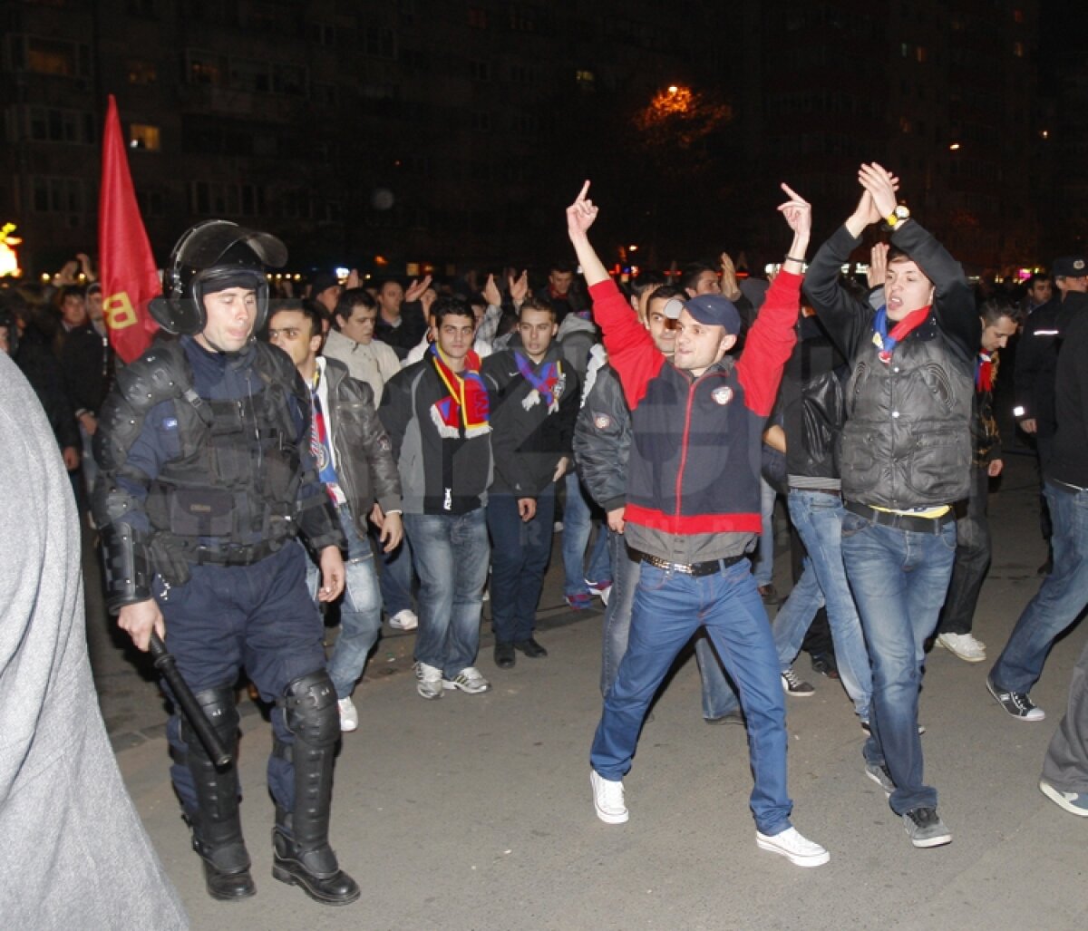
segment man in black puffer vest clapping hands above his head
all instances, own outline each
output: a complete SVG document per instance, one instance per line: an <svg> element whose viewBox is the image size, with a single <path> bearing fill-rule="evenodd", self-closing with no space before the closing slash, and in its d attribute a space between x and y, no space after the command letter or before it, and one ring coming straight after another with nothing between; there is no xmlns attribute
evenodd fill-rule
<svg viewBox="0 0 1088 931"><path fill-rule="evenodd" d="M923 783L918 691L955 556L952 505L967 497L974 359L981 336L959 263L897 206L899 179L862 165L856 210L817 252L805 294L848 352L839 467L842 557L873 666L866 772L890 794L916 847L948 844L937 791ZM839 270L881 219L892 228L887 305L839 283Z"/></svg>

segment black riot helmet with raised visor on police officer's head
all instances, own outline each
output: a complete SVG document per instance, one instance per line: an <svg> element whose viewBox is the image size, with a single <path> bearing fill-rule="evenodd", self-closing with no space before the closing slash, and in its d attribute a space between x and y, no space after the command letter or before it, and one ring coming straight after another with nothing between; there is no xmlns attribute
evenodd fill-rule
<svg viewBox="0 0 1088 931"><path fill-rule="evenodd" d="M187 229L163 271L163 295L151 301L151 316L168 333L195 336L208 321L203 296L232 287L257 291L257 321L269 311L265 269L287 261L287 247L270 233L258 233L228 220L207 220Z"/></svg>

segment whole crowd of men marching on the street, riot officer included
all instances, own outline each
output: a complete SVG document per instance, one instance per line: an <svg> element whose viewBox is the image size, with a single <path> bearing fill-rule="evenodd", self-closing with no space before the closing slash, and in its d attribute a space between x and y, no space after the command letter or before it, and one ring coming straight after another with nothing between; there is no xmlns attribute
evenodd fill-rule
<svg viewBox="0 0 1088 931"><path fill-rule="evenodd" d="M590 246L589 183L567 211L589 300L557 266L536 295L511 275L512 306L493 278L482 300L437 295L429 280L407 300L395 282L372 294L330 280L313 300L273 302L264 272L286 258L274 237L223 221L182 237L152 306L178 338L123 369L104 404L88 395L79 426L101 469L92 510L121 626L140 648L152 631L169 637L228 748L239 669L275 708L276 879L326 904L359 896L329 845L332 769L337 733L359 723L351 695L383 609L391 625L417 630L425 699L491 688L477 665L489 570L495 668L547 656L534 622L564 487L567 603L610 593L590 755L603 821L628 820L622 777L695 636L704 718L747 730L758 846L827 862L792 827L784 728L784 696L807 694L791 663L826 606L867 734L866 774L915 846L951 841L923 780L918 693L929 637L985 658L970 621L989 561L988 481L1001 470L992 389L1017 315L999 301L976 309L959 264L899 203L894 175L863 165L858 184L856 209L807 269L811 208L782 186L792 241L758 314L704 268L688 288L644 288L632 309ZM866 297L840 270L879 223L891 251L875 253L882 291ZM1088 357L1070 352L1084 342L1088 276L1074 274L1081 259L1055 269L1063 300L1036 311L1066 343L1052 360L1043 468L1054 567L987 683L1024 721L1042 719L1027 693L1088 601ZM96 368L101 339L78 330L74 297L60 302L65 345ZM88 370L81 384L107 373ZM750 561L765 526L767 444L784 452L807 548L774 625ZM590 500L604 521L586 571ZM335 601L326 659L317 606ZM1040 782L1076 815L1088 815L1086 661ZM214 765L183 716L169 735L209 893L252 895L236 771Z"/></svg>

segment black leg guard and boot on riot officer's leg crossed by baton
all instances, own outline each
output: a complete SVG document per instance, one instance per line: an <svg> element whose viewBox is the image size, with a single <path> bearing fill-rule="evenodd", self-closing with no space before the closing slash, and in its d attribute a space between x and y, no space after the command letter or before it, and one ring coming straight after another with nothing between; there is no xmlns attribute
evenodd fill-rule
<svg viewBox="0 0 1088 931"><path fill-rule="evenodd" d="M196 699L232 758L237 759L238 708L234 690L207 688ZM175 761L188 768L196 793L196 810L186 816L193 828L193 849L203 859L205 881L212 898L244 898L257 890L249 874L249 853L242 837L238 817L238 770L235 764L217 769L203 744L181 718L183 753L174 748ZM181 759L180 757L183 757Z"/></svg>

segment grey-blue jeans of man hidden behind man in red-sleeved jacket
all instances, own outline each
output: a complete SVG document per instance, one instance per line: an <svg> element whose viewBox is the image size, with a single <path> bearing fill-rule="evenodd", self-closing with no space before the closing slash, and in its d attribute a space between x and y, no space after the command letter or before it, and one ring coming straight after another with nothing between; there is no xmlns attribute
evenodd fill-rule
<svg viewBox="0 0 1088 931"><path fill-rule="evenodd" d="M608 531L608 551L613 562L613 592L605 608L604 649L601 658L601 695L607 697L616 681L620 661L627 653L631 631L631 609L639 587L642 563L631 559L623 535ZM695 641L695 659L703 680L703 717L720 718L738 707L717 654L705 636Z"/></svg>

